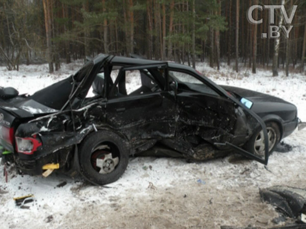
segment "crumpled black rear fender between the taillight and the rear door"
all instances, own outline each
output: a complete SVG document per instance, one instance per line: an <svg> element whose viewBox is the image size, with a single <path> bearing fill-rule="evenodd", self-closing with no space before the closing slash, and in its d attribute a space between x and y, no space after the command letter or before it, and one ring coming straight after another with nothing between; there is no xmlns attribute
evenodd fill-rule
<svg viewBox="0 0 306 229"><path fill-rule="evenodd" d="M15 135L18 137L38 135L43 145L32 158L39 158L79 144L94 130L93 124L97 127L103 126L105 114L105 104L92 103L81 109L61 111L20 124ZM28 155L23 157L27 158Z"/></svg>

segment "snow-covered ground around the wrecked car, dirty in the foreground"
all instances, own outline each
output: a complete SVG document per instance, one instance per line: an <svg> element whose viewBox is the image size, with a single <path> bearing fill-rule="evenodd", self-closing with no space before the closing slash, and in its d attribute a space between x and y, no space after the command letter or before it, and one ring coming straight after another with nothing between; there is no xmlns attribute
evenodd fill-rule
<svg viewBox="0 0 306 229"><path fill-rule="evenodd" d="M81 66L63 65L47 73L47 65L20 66L19 72L0 67L0 85L22 93L56 82ZM258 69L237 74L221 66L216 71L199 63L197 70L219 84L234 85L281 97L298 107L306 121L306 76L291 74L272 77ZM131 158L123 176L107 187L92 186L52 174L47 178L16 175L9 182L0 177L1 228L220 228L232 226L273 226L273 207L262 203L259 188L288 185L306 188L306 130L284 139L293 150L274 152L268 166L239 156L187 163L184 159ZM2 174L3 166L0 166ZM63 187L57 187L62 182ZM13 197L34 194L30 209L19 209Z"/></svg>

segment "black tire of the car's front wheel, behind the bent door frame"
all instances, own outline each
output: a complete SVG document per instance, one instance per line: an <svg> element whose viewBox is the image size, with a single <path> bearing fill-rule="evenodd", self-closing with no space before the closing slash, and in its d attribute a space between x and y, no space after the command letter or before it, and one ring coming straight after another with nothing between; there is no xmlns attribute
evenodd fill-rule
<svg viewBox="0 0 306 229"><path fill-rule="evenodd" d="M267 132L268 134L271 133L269 137L269 155L273 152L276 145L278 144L279 140L281 140L281 132L279 131L279 127L275 122L267 122L266 123ZM258 142L262 136L260 136L260 133L262 131L262 128L258 128L254 134L251 136L251 138L248 140L245 148L248 152L257 155L257 156L264 156L264 151L261 150L264 149L263 147L255 146L256 141ZM262 132L263 133L263 132ZM274 135L274 136L273 136ZM275 138L275 141L271 140L272 137ZM263 140L264 142L264 140ZM273 143L274 142L274 143Z"/></svg>

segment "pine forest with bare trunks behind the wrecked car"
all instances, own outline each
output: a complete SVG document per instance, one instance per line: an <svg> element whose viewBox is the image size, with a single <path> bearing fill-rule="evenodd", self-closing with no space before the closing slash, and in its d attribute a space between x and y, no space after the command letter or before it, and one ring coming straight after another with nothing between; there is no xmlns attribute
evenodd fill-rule
<svg viewBox="0 0 306 229"><path fill-rule="evenodd" d="M251 14L262 23L248 20L253 5L263 7ZM271 26L266 5L283 5L293 15L288 24L281 9L273 11L279 37L263 38ZM292 26L289 38L282 26ZM224 62L237 72L245 66L289 75L305 71L306 1L0 0L0 33L0 62L8 70L47 62L54 72L98 53L137 53L194 68L208 62L220 69Z"/></svg>

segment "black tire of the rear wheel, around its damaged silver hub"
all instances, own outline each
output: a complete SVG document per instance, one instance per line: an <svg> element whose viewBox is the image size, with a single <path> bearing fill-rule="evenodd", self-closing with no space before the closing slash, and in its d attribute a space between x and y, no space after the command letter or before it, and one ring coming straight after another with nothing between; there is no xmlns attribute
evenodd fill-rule
<svg viewBox="0 0 306 229"><path fill-rule="evenodd" d="M119 162L110 173L100 174L97 165L92 162L92 156L97 151L101 151L100 149L95 150L98 146L105 145L110 148L107 149L108 153L111 153L112 157L118 157ZM129 162L129 147L125 139L109 130L90 133L83 140L79 152L81 173L93 184L105 185L117 181Z"/></svg>

